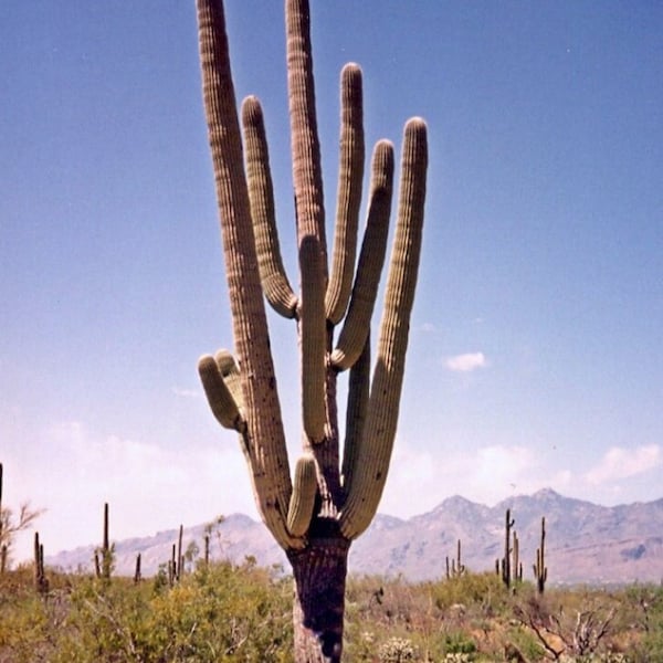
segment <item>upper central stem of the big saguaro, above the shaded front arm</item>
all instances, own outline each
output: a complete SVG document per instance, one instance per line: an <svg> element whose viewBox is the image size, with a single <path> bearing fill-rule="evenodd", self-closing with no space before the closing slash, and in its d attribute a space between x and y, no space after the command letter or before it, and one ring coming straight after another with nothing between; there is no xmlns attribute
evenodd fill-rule
<svg viewBox="0 0 663 663"><path fill-rule="evenodd" d="M287 87L293 180L298 244L305 236L319 242L323 284L327 281L327 246L320 145L315 115L311 11L307 0L286 0Z"/></svg>

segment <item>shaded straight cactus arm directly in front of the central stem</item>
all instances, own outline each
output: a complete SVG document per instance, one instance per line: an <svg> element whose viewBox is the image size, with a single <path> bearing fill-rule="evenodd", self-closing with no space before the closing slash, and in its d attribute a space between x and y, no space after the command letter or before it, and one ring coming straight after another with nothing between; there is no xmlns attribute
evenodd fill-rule
<svg viewBox="0 0 663 663"><path fill-rule="evenodd" d="M327 325L325 294L319 278L323 269L322 262L323 256L318 241L314 236L305 236L299 248L302 414L304 432L314 444L324 440L327 421L325 401Z"/></svg>

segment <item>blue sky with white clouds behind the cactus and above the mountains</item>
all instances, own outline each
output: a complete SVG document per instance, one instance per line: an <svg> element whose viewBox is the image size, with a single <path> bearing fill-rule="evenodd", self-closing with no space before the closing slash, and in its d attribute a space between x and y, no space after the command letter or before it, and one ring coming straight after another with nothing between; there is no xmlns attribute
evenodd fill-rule
<svg viewBox="0 0 663 663"><path fill-rule="evenodd" d="M368 146L398 150L408 117L429 124L381 511L544 486L601 504L661 497L663 7L313 4L329 208L345 62L364 70ZM296 283L282 11L227 3ZM0 44L6 503L48 509L51 551L97 540L106 501L116 538L255 515L196 371L231 326L193 2L3 3ZM294 455L295 329L271 323Z"/></svg>

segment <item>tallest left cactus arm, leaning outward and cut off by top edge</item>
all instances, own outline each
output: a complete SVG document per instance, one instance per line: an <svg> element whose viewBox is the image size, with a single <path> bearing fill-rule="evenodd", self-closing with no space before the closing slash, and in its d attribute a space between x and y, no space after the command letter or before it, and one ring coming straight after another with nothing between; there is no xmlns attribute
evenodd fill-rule
<svg viewBox="0 0 663 663"><path fill-rule="evenodd" d="M257 273L240 123L221 3L198 0L198 22L203 97L214 165L233 336L242 368L246 412L246 431L242 439L248 450L256 504L265 524L281 546L298 547L301 544L286 528L292 483Z"/></svg>

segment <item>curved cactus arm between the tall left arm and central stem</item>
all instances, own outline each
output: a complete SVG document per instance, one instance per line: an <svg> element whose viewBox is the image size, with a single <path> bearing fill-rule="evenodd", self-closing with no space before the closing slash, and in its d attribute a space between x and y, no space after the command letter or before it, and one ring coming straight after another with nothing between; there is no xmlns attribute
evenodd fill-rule
<svg viewBox="0 0 663 663"><path fill-rule="evenodd" d="M256 97L246 97L242 103L242 126L246 150L249 199L262 288L274 311L292 318L295 317L297 297L293 293L281 259L270 154L263 112Z"/></svg>

